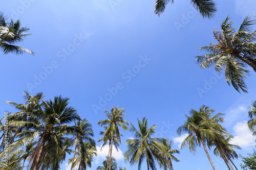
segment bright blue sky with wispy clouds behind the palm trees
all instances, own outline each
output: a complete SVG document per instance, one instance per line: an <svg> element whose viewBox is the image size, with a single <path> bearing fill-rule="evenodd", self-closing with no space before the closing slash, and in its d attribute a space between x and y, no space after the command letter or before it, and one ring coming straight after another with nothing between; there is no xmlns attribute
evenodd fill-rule
<svg viewBox="0 0 256 170"><path fill-rule="evenodd" d="M32 95L42 91L46 100L61 94L90 121L98 140L103 128L96 123L105 118L102 110L118 105L126 109L127 121L137 127L137 118L146 116L151 126L157 125L157 136L173 139L173 149L179 149L183 138L175 132L184 114L207 105L226 113L223 125L234 136L234 144L241 145L237 152L246 156L255 145L246 128L248 107L256 94L255 73L246 80L249 93L240 94L214 69L201 70L194 56L204 54L198 52L201 46L215 42L212 31L220 29L227 15L238 28L245 16L255 14L256 3L225 0L218 1L217 8L216 17L209 20L189 1L169 4L160 17L154 15L154 1L145 0L2 2L2 12L30 28L32 35L18 45L36 55L1 55L1 111L15 112L5 101L23 103L24 90ZM133 134L122 133L114 156L119 166L137 169L122 157L125 140ZM92 169L101 165L104 154L98 153ZM203 148L196 155L186 148L176 156L180 162L174 162L175 169L211 169ZM210 156L216 169L226 169L211 151ZM67 160L61 169L68 169ZM240 162L235 161L238 167Z"/></svg>

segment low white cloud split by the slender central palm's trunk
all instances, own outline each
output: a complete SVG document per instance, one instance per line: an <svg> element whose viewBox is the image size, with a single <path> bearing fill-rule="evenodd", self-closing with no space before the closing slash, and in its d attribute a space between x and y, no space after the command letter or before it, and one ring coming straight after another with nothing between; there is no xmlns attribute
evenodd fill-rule
<svg viewBox="0 0 256 170"><path fill-rule="evenodd" d="M109 154L109 145L105 145L102 150L100 151L101 149L101 146L96 146L96 149L97 149L97 157L95 159L95 163L96 164L99 164L101 163L103 160L105 160L106 156L108 156ZM116 148L113 147L113 151L112 151L112 156L116 159L116 160L122 160L124 157L123 157L123 152L120 150L120 148L118 148L118 151L116 150Z"/></svg>

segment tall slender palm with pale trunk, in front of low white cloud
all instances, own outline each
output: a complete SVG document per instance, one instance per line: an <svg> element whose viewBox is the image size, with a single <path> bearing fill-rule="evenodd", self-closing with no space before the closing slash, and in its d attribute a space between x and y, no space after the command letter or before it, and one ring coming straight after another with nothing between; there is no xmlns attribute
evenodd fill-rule
<svg viewBox="0 0 256 170"><path fill-rule="evenodd" d="M116 135L117 140L121 143L118 126L120 126L123 130L129 129L126 126L126 125L129 125L129 123L126 122L123 119L123 116L126 115L125 113L123 113L124 111L125 111L124 108L118 109L118 107L116 105L115 107L111 108L111 113L109 113L107 110L104 110L104 113L108 117L108 119L100 120L99 122L97 122L97 124L100 125L101 127L105 126L105 125L108 125L108 127L106 128L107 133L104 133L103 137L111 136L111 138L110 138L111 143L110 143L110 150L109 150L109 157L108 157L108 165L110 165L111 158L112 158L113 137L114 137L114 135ZM110 169L110 167L109 167L109 169Z"/></svg>

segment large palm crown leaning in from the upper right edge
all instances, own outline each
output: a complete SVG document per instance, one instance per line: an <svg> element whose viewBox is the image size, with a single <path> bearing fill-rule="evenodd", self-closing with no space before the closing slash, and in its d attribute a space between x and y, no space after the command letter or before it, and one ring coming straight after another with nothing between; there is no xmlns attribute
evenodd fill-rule
<svg viewBox="0 0 256 170"><path fill-rule="evenodd" d="M252 17L246 17L238 32L233 28L233 22L227 17L221 25L221 31L214 30L214 38L218 41L204 46L199 51L204 50L210 54L196 56L196 62L201 68L209 68L215 65L215 70L221 74L225 71L228 85L240 92L247 92L244 82L248 75L247 66L256 71L256 32L251 31L251 26L255 24Z"/></svg>

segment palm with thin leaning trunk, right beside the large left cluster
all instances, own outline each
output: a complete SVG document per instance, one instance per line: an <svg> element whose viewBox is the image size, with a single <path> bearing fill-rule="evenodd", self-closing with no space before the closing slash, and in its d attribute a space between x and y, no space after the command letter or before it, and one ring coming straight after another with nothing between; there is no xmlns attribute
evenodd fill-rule
<svg viewBox="0 0 256 170"><path fill-rule="evenodd" d="M75 122L75 131L72 132L72 135L75 136L72 144L72 147L75 145L75 151L71 163L71 170L73 168L76 149L83 147L84 141L90 141L92 143L95 143L94 139L91 138L94 135L92 125L86 119L78 120L78 122Z"/></svg>

